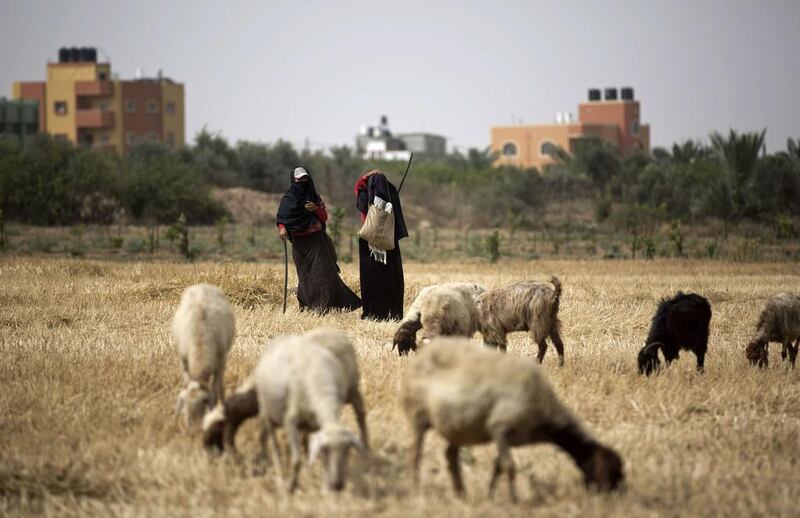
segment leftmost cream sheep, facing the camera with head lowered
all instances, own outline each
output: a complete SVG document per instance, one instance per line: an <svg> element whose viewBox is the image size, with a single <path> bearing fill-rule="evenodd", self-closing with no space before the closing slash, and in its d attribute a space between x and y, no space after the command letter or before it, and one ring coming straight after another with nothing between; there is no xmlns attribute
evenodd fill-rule
<svg viewBox="0 0 800 518"><path fill-rule="evenodd" d="M197 425L206 410L225 395L225 359L234 327L233 308L221 289L197 284L183 292L172 320L172 334L187 384L178 395L175 414L185 410L188 427Z"/></svg>

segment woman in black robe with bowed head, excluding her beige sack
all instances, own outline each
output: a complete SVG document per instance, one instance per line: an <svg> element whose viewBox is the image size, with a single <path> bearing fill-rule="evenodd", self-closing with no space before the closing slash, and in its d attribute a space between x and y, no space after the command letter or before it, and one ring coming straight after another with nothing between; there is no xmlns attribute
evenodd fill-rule
<svg viewBox="0 0 800 518"><path fill-rule="evenodd" d="M361 222L367 217L375 197L391 202L394 213L394 250L385 253L370 249L365 240L358 240L358 264L361 275L361 318L400 320L403 317L403 258L399 241L408 237L400 196L395 186L377 170L359 178L355 185L356 208Z"/></svg>

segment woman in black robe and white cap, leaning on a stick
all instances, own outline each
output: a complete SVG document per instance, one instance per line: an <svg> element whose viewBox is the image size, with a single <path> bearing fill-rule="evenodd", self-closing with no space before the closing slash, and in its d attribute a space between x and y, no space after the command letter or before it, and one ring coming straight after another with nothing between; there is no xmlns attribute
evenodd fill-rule
<svg viewBox="0 0 800 518"><path fill-rule="evenodd" d="M291 182L278 207L277 225L281 239L292 243L300 309L325 313L358 308L361 300L339 277L336 249L325 232L325 202L317 194L311 175L295 167Z"/></svg>

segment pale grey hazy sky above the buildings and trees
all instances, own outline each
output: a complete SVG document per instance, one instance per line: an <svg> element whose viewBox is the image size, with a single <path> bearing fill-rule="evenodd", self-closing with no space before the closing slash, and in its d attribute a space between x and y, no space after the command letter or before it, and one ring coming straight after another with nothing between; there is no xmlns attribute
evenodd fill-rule
<svg viewBox="0 0 800 518"><path fill-rule="evenodd" d="M800 1L0 0L0 95L60 46L186 85L187 137L352 144L397 132L487 146L492 125L633 86L653 145L767 127L800 137Z"/></svg>

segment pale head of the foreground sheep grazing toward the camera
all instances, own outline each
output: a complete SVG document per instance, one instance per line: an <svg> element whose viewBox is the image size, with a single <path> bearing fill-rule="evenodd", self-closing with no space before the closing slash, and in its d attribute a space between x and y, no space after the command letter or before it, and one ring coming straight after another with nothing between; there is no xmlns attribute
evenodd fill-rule
<svg viewBox="0 0 800 518"><path fill-rule="evenodd" d="M325 471L325 485L331 491L344 489L347 480L347 458L350 448L364 451L356 435L340 424L326 426L311 436L308 463L319 457Z"/></svg>

